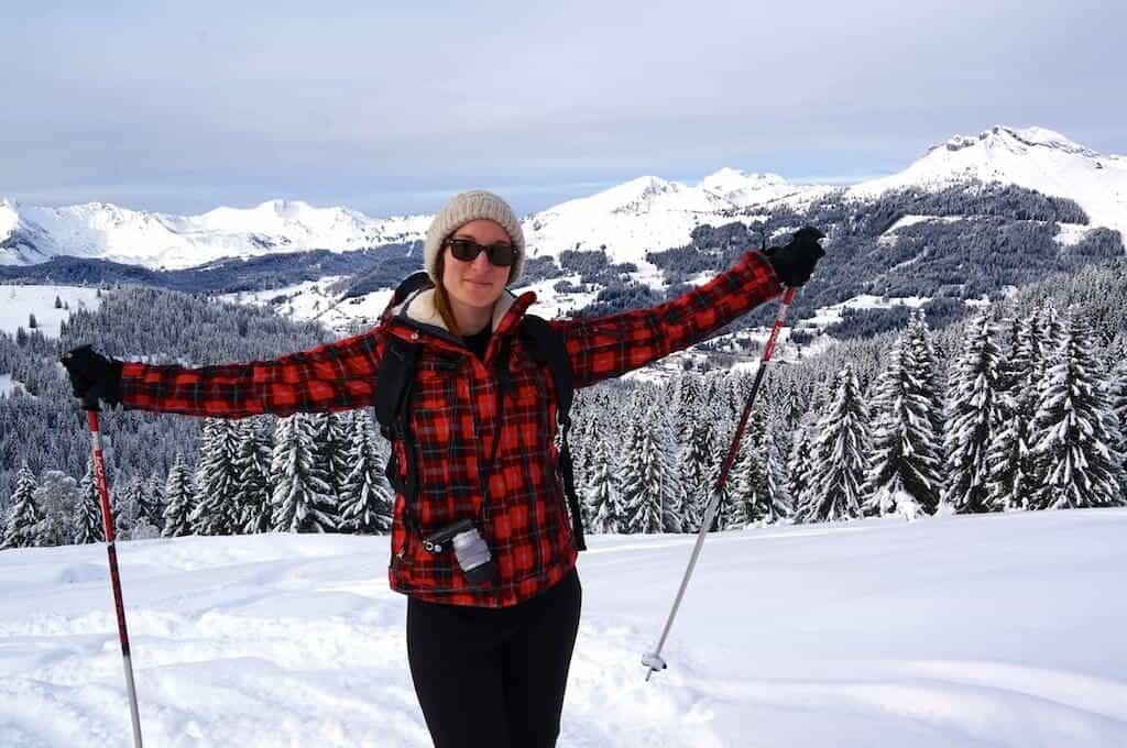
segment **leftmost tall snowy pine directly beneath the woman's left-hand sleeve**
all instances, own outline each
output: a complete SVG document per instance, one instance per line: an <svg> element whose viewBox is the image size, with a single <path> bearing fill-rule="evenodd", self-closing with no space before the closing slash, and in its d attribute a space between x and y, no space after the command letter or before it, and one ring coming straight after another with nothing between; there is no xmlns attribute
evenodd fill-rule
<svg viewBox="0 0 1127 748"><path fill-rule="evenodd" d="M192 513L192 529L196 535L231 535L241 529L239 477L234 469L240 435L232 421L204 420L196 466L196 506Z"/></svg>

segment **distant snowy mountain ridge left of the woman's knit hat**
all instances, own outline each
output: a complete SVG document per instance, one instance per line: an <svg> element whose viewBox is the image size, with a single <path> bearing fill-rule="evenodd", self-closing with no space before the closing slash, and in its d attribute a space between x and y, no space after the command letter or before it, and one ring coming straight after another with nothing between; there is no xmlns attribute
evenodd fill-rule
<svg viewBox="0 0 1127 748"><path fill-rule="evenodd" d="M0 203L0 264L42 262L56 255L178 269L222 257L309 249L347 251L421 239L429 216L374 220L343 207L269 201L176 216L105 203L36 207Z"/></svg>

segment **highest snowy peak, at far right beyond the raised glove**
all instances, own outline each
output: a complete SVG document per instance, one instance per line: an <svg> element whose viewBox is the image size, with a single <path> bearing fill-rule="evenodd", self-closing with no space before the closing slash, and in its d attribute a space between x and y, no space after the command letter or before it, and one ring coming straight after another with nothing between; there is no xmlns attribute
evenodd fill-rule
<svg viewBox="0 0 1127 748"><path fill-rule="evenodd" d="M1044 127L997 125L977 136L956 135L904 171L854 185L846 194L873 198L888 189L937 189L967 179L1074 199L1093 225L1127 237L1127 157L1098 153Z"/></svg>

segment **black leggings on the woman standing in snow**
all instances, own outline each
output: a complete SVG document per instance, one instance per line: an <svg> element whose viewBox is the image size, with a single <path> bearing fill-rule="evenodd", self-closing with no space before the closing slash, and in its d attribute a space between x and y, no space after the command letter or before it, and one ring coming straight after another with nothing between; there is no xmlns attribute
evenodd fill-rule
<svg viewBox="0 0 1127 748"><path fill-rule="evenodd" d="M435 748L551 748L583 588L573 570L518 605L407 602L407 657Z"/></svg>

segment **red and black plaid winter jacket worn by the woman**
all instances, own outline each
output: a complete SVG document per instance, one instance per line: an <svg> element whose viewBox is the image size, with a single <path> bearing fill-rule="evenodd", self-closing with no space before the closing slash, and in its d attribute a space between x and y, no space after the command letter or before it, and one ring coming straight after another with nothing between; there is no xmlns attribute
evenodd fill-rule
<svg viewBox="0 0 1127 748"><path fill-rule="evenodd" d="M748 252L731 269L653 309L552 322L566 341L575 385L587 386L649 364L703 339L782 287L770 262ZM396 497L391 587L421 599L502 607L548 589L571 570L567 499L556 471L556 397L547 366L533 362L515 335L535 294L506 293L494 313L494 336L479 360L442 326L425 291L352 338L275 360L199 368L127 363L127 408L240 418L257 413L336 411L371 406L388 336L425 345L416 366L410 428L419 493L412 514L423 533L455 519L481 519L499 575L489 589L469 586L452 551L432 554L407 528ZM507 342L512 385L497 420L494 364ZM486 470L495 439L496 460ZM397 442L399 464L406 465ZM488 490L486 490L488 483ZM486 495L488 493L488 500Z"/></svg>

